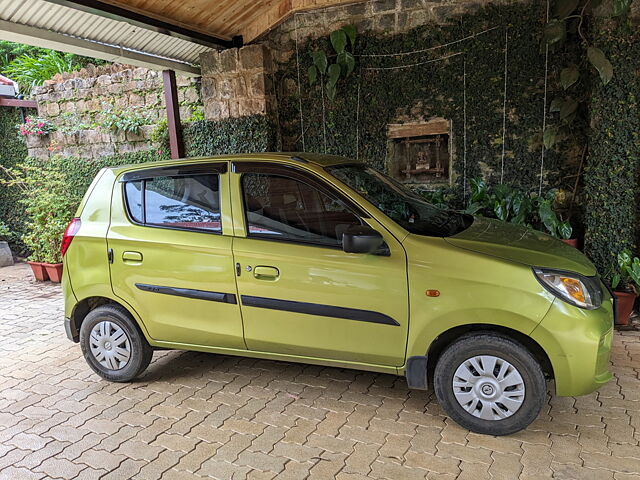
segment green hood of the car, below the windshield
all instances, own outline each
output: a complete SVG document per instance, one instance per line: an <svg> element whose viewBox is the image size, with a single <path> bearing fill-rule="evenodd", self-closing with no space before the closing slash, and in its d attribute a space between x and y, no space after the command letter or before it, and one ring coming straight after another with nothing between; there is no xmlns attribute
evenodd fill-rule
<svg viewBox="0 0 640 480"><path fill-rule="evenodd" d="M597 274L593 263L578 249L536 230L498 220L475 217L469 228L445 241L532 267L566 270L589 277Z"/></svg>

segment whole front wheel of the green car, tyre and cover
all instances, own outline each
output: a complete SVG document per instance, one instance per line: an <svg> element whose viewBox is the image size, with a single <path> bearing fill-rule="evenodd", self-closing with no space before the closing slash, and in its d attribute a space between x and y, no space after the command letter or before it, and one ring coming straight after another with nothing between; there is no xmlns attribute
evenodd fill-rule
<svg viewBox="0 0 640 480"><path fill-rule="evenodd" d="M538 361L521 344L499 335L469 334L450 345L434 372L445 412L477 433L509 435L533 422L546 399Z"/></svg>

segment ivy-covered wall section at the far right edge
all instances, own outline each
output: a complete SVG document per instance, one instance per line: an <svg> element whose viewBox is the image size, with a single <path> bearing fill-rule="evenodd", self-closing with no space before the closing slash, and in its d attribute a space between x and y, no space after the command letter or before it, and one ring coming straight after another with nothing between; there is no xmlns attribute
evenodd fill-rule
<svg viewBox="0 0 640 480"><path fill-rule="evenodd" d="M640 246L640 16L594 25L613 80L594 86L592 137L585 170L585 247L601 272L624 248Z"/></svg>

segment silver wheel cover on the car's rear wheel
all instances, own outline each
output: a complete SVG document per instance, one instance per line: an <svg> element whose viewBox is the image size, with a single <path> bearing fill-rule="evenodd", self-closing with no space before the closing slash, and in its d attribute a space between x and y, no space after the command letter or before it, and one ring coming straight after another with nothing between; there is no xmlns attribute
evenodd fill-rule
<svg viewBox="0 0 640 480"><path fill-rule="evenodd" d="M131 342L117 324L103 321L91 329L89 347L93 357L109 370L120 370L131 358Z"/></svg>

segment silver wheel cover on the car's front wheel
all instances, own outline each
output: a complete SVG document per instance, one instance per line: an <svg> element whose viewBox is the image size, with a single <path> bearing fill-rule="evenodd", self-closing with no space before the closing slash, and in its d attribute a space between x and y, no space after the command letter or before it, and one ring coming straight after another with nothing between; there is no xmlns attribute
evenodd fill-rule
<svg viewBox="0 0 640 480"><path fill-rule="evenodd" d="M525 398L520 372L493 355L471 357L453 375L453 394L462 408L483 420L502 420L516 413Z"/></svg>

